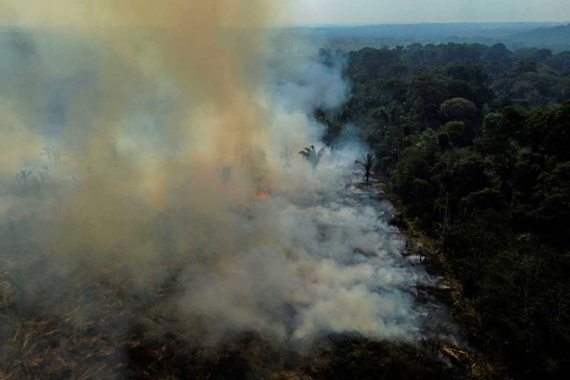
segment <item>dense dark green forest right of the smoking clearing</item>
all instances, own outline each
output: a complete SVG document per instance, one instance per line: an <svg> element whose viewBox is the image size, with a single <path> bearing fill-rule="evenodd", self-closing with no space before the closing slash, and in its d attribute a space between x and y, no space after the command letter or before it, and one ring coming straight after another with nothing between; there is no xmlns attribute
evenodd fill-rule
<svg viewBox="0 0 570 380"><path fill-rule="evenodd" d="M427 264L472 302L475 347L514 378L565 378L570 51L414 43L347 61L351 99L316 114L327 142L352 122L373 147L402 200L394 223L437 241Z"/></svg>

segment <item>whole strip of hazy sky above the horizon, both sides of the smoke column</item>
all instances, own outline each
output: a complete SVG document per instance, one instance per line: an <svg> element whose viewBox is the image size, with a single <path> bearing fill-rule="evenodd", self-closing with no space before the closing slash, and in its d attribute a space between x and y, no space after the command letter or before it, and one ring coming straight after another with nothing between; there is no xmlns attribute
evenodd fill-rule
<svg viewBox="0 0 570 380"><path fill-rule="evenodd" d="M105 11L142 0L0 0L0 25L89 25L108 18ZM186 1L148 0L160 9ZM219 0L224 6L244 6L251 0ZM260 0L271 4L268 25L370 24L422 22L570 21L570 0ZM125 6L127 5L127 6ZM198 6L197 5L197 6ZM71 7L70 7L71 6ZM70 9L71 8L71 9ZM160 15L160 12L157 12ZM231 12L230 12L231 14ZM111 17L117 22L116 15ZM120 21L125 21L121 17ZM148 20L147 20L148 21ZM160 17L157 21L160 24ZM231 24L231 21L229 22ZM99 23L97 23L99 25Z"/></svg>

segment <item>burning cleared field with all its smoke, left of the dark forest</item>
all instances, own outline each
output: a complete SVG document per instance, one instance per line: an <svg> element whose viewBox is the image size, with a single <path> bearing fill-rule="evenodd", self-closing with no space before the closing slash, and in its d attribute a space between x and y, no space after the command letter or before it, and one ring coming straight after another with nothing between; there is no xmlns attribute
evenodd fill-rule
<svg viewBox="0 0 570 380"><path fill-rule="evenodd" d="M340 337L425 360L433 281L367 148L296 154L341 57L284 58L264 2L9 3L0 379L331 378Z"/></svg>

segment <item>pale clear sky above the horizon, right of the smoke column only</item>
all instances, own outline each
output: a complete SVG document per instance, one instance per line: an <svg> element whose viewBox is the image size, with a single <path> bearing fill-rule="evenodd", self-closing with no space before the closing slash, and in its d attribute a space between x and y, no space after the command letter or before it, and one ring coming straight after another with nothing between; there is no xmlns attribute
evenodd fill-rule
<svg viewBox="0 0 570 380"><path fill-rule="evenodd" d="M570 0L290 0L294 23L570 20Z"/></svg>

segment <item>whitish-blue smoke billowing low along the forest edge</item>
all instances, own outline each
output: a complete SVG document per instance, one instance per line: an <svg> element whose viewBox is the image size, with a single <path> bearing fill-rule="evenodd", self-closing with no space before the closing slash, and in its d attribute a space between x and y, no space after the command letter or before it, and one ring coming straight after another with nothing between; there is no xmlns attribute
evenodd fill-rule
<svg viewBox="0 0 570 380"><path fill-rule="evenodd" d="M347 101L345 57L286 56L274 59L263 96L272 149L287 147L280 191L252 205L245 218L235 216L235 252L211 272L185 273L181 305L221 336L254 330L295 342L345 332L412 339L420 320L409 290L421 280L387 224L391 205L355 187L361 178L351 164L366 147L352 141L327 152L316 171L296 154L323 146L316 108L332 111Z"/></svg>

